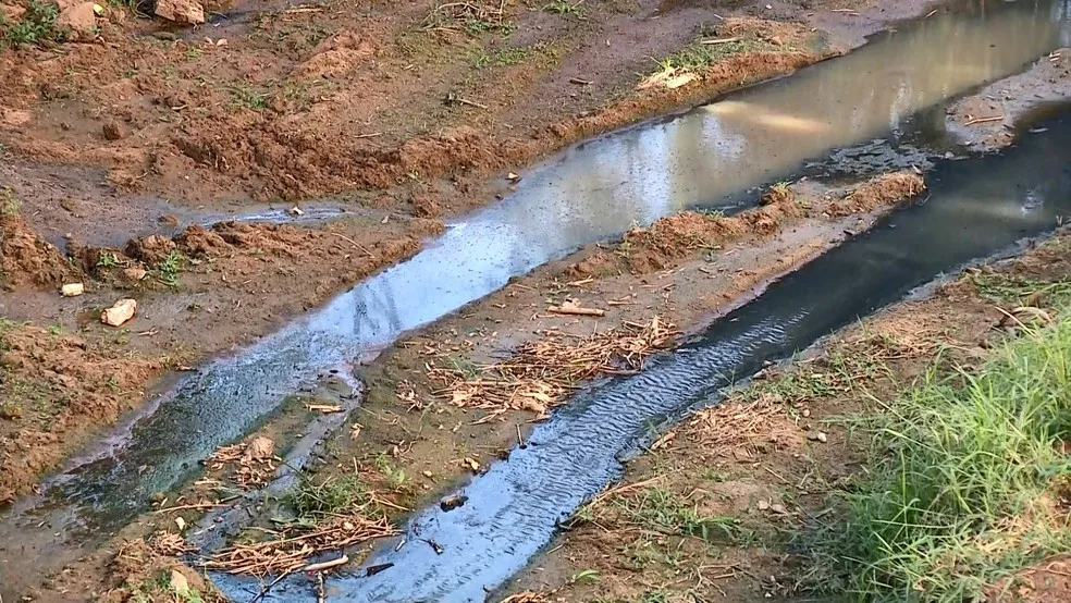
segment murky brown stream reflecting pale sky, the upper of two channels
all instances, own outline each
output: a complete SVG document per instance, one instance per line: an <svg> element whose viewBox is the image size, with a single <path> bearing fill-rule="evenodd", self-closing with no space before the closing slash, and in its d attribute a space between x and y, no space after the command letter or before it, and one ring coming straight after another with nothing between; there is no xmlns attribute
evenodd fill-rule
<svg viewBox="0 0 1071 603"><path fill-rule="evenodd" d="M74 459L41 500L23 501L0 525L0 542L21 545L0 551L0 593L17 592L40 571L37 559L69 558L65 537L53 533L84 525L101 538L122 526L317 373L345 369L401 332L635 222L731 205L832 149L896 141L918 130L920 110L1068 44L1068 12L1062 2L1021 1L938 14L790 78L569 149L525 174L508 199L450 224L411 260L184 378L100 450Z"/></svg>

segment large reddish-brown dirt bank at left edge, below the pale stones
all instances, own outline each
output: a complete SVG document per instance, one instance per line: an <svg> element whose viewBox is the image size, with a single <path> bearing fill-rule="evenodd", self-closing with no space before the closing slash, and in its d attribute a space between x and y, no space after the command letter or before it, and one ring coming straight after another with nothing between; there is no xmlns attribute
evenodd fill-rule
<svg viewBox="0 0 1071 603"><path fill-rule="evenodd" d="M0 503L141 399L164 359L126 357L57 330L0 322Z"/></svg>

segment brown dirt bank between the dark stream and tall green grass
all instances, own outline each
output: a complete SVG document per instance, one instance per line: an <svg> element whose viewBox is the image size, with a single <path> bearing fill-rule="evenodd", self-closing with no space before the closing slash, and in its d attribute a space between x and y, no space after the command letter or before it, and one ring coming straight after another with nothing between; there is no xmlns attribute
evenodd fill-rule
<svg viewBox="0 0 1071 603"><path fill-rule="evenodd" d="M980 274L987 279L975 279ZM828 494L865 469L865 442L829 419L879 411L875 401L910 386L938 349L949 367L984 358L1013 332L1001 307L1023 303L989 297L978 283L994 275L1041 284L1071 279L1071 237L1062 234L1019 259L972 269L927 299L900 303L846 328L792 361L764 369L722 405L695 413L629 463L621 483L579 513L551 552L514 580L515 601L807 599L807 577L785 534L820 520L829 512ZM1046 307L1045 296L1026 297ZM825 442L817 440L820 431ZM707 546L637 522L638 505L660 494L670 501L664 507L722 517L731 527ZM1061 557L1023 568L1011 579L1013 588L993 589L993 601L1071 601L1066 569ZM583 579L583 573L594 578Z"/></svg>

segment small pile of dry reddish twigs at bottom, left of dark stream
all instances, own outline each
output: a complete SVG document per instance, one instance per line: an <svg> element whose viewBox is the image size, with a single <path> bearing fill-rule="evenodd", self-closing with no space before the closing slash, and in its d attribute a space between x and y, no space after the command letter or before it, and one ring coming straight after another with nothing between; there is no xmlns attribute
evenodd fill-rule
<svg viewBox="0 0 1071 603"><path fill-rule="evenodd" d="M234 544L206 559L202 566L230 574L284 576L307 567L312 555L395 533L386 518L331 516L318 526L292 526L276 532L272 540Z"/></svg>

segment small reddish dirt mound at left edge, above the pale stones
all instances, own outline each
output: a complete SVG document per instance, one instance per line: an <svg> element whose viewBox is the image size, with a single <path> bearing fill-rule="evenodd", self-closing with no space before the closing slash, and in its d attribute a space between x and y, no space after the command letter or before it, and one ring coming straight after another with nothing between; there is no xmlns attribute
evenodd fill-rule
<svg viewBox="0 0 1071 603"><path fill-rule="evenodd" d="M54 286L75 271L54 245L15 212L0 212L0 287Z"/></svg>

